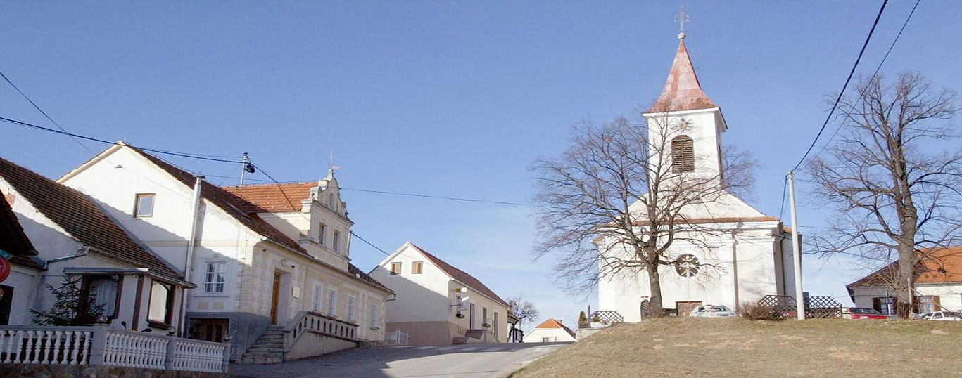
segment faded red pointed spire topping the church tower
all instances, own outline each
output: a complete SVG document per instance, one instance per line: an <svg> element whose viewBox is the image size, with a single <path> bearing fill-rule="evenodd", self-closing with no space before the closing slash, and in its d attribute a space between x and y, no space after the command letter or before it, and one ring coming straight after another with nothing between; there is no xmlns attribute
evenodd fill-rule
<svg viewBox="0 0 962 378"><path fill-rule="evenodd" d="M655 104L648 109L654 111L679 111L695 110L719 107L712 103L701 91L701 84L695 75L695 67L692 66L692 59L688 57L688 48L685 47L684 34L678 35L678 51L674 54L674 61L671 63L671 71L668 73L668 80L665 81L665 89L662 89L661 96L655 100Z"/></svg>

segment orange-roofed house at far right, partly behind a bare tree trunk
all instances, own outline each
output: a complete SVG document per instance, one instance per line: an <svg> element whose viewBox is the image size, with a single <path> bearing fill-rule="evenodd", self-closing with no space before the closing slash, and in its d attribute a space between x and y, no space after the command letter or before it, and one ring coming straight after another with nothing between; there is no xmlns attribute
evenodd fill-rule
<svg viewBox="0 0 962 378"><path fill-rule="evenodd" d="M886 265L846 285L848 295L856 307L895 314L893 287L898 272L898 261ZM916 267L914 301L916 314L962 310L962 247L940 249Z"/></svg>

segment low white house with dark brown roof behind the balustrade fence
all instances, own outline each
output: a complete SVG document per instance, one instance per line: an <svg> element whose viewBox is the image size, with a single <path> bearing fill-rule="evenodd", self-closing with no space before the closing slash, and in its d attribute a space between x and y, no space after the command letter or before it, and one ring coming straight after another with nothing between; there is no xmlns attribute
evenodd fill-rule
<svg viewBox="0 0 962 378"><path fill-rule="evenodd" d="M195 285L83 193L3 158L0 193L2 227L14 236L22 230L27 240L20 248L34 251L12 259L13 272L0 285L0 324L31 324L30 310L47 312L54 304L45 285L58 288L65 276L80 278L85 296L95 295L91 305L101 306L86 322L166 332L178 319L174 304Z"/></svg>

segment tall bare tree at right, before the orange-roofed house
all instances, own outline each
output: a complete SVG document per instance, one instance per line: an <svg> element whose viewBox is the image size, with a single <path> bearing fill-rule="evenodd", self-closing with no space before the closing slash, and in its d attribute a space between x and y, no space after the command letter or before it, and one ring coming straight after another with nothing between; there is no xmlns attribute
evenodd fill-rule
<svg viewBox="0 0 962 378"><path fill-rule="evenodd" d="M816 201L839 212L815 238L823 253L844 253L878 265L898 256L890 285L899 318L912 308L920 266L938 266L962 236L959 212L962 153L946 152L957 133L956 93L931 87L921 74L902 73L856 84L840 104L841 138L808 163Z"/></svg>

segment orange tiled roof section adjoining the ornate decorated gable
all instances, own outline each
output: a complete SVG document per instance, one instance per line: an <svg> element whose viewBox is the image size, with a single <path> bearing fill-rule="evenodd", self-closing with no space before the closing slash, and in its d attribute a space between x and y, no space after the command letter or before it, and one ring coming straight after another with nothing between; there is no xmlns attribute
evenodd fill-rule
<svg viewBox="0 0 962 378"><path fill-rule="evenodd" d="M247 204L241 208L248 213L288 213L301 211L301 202L311 197L311 188L317 182L285 182L280 184L255 184L222 186L225 191L240 197Z"/></svg>

